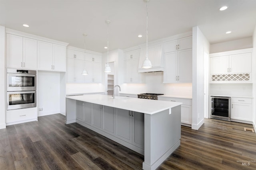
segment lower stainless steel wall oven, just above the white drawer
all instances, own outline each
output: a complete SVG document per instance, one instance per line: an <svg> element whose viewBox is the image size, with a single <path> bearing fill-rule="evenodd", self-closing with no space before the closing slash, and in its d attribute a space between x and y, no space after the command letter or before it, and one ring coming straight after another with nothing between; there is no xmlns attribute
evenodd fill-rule
<svg viewBox="0 0 256 170"><path fill-rule="evenodd" d="M36 91L7 92L7 110L36 107Z"/></svg>

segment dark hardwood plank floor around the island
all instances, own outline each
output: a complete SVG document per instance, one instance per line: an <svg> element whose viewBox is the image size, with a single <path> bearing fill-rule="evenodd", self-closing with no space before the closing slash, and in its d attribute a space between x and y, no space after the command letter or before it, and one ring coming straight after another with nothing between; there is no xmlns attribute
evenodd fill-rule
<svg viewBox="0 0 256 170"><path fill-rule="evenodd" d="M144 156L61 114L0 129L0 170L141 169ZM182 126L181 145L158 170L256 169L252 125L205 119L198 131Z"/></svg>

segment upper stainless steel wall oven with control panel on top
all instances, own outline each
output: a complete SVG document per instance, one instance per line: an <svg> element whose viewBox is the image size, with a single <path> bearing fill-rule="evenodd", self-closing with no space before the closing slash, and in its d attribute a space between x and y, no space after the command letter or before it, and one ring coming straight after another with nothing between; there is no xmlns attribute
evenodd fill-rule
<svg viewBox="0 0 256 170"><path fill-rule="evenodd" d="M7 91L35 91L36 70L7 68Z"/></svg>

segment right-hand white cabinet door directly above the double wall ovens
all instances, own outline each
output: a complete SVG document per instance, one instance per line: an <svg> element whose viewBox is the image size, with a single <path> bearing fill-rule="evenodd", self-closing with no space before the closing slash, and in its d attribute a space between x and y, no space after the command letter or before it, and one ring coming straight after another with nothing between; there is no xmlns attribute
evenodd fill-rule
<svg viewBox="0 0 256 170"><path fill-rule="evenodd" d="M23 67L37 68L37 40L23 37Z"/></svg>

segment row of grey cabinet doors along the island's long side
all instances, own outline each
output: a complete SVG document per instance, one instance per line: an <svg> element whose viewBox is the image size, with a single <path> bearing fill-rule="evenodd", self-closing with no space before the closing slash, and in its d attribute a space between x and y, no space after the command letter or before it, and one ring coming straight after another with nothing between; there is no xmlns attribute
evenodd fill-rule
<svg viewBox="0 0 256 170"><path fill-rule="evenodd" d="M77 100L76 120L144 149L144 113Z"/></svg>

